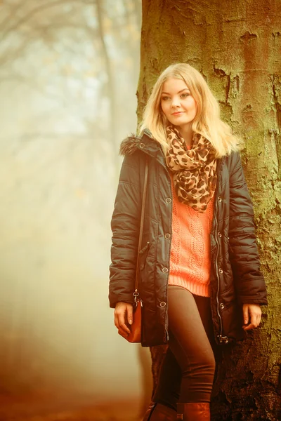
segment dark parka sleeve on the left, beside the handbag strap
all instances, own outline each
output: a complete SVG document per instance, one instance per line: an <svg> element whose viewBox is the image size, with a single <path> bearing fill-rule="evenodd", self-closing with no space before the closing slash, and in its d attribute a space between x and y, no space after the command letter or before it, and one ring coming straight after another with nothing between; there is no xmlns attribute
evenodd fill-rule
<svg viewBox="0 0 281 421"><path fill-rule="evenodd" d="M110 307L119 301L133 303L141 218L139 166L137 153L124 157L111 221Z"/></svg>

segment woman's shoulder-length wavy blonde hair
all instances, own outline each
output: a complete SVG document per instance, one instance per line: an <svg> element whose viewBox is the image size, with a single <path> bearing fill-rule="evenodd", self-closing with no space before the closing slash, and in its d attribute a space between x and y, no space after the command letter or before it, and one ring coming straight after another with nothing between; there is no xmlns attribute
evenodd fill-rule
<svg viewBox="0 0 281 421"><path fill-rule="evenodd" d="M185 63L171 65L160 74L145 106L139 131L142 133L145 128L148 128L153 138L166 152L169 147L166 138L166 126L169 125L169 121L162 112L161 93L163 83L171 78L182 79L188 86L197 103L197 114L192 121L192 131L202 134L211 142L216 149L216 156L220 158L240 149L241 141L233 135L230 126L221 120L218 101L211 93L204 77L194 67Z"/></svg>

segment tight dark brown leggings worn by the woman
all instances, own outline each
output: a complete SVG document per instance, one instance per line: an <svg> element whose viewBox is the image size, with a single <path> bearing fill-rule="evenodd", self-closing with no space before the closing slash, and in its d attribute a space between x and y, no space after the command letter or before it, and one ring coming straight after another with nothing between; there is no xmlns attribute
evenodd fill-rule
<svg viewBox="0 0 281 421"><path fill-rule="evenodd" d="M153 401L209 402L214 380L214 333L210 299L168 286L169 348Z"/></svg>

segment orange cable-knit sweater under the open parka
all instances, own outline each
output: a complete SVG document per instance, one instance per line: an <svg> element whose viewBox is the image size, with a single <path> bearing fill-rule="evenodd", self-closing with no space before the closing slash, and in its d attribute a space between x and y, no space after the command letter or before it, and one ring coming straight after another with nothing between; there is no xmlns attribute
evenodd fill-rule
<svg viewBox="0 0 281 421"><path fill-rule="evenodd" d="M214 197L207 210L200 213L179 202L173 180L171 184L173 214L169 285L183 286L192 294L209 297Z"/></svg>

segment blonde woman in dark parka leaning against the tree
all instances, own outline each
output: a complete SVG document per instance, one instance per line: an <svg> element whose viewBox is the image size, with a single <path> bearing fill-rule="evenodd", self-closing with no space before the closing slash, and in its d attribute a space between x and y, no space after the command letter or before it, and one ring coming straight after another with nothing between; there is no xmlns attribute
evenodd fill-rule
<svg viewBox="0 0 281 421"><path fill-rule="evenodd" d="M209 420L214 347L242 339L261 321L266 286L238 149L206 81L186 64L159 76L141 136L122 142L110 306L126 338L148 161L142 345L169 345L144 420Z"/></svg>

